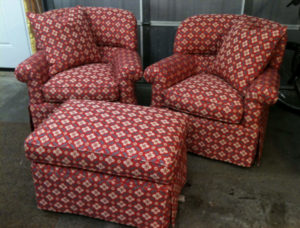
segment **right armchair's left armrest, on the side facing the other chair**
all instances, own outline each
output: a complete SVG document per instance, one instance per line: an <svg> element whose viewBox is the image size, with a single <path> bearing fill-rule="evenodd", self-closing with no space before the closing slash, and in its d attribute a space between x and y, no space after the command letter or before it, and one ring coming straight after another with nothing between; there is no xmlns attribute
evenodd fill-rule
<svg viewBox="0 0 300 228"><path fill-rule="evenodd" d="M151 84L168 88L194 74L195 61L191 55L173 54L147 67L144 77Z"/></svg>

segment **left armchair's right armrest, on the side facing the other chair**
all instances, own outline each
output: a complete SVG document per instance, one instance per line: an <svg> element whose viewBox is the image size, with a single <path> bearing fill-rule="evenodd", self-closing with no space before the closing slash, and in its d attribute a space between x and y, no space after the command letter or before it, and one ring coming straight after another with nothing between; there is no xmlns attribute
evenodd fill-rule
<svg viewBox="0 0 300 228"><path fill-rule="evenodd" d="M143 68L139 54L128 49L118 49L111 61L119 80L137 81L143 75Z"/></svg>

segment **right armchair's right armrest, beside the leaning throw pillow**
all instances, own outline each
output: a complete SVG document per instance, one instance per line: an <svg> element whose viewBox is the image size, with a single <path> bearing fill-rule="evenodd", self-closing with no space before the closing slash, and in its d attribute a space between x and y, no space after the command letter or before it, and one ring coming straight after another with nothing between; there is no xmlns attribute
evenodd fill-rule
<svg viewBox="0 0 300 228"><path fill-rule="evenodd" d="M280 75L274 68L267 68L248 87L245 99L261 104L275 104L278 99Z"/></svg>

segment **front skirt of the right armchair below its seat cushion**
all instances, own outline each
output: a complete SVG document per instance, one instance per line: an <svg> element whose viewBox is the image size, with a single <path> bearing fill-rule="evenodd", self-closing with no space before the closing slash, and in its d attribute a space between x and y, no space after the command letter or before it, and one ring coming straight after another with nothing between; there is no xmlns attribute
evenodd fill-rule
<svg viewBox="0 0 300 228"><path fill-rule="evenodd" d="M250 167L256 156L258 131L189 116L188 151L211 159Z"/></svg>

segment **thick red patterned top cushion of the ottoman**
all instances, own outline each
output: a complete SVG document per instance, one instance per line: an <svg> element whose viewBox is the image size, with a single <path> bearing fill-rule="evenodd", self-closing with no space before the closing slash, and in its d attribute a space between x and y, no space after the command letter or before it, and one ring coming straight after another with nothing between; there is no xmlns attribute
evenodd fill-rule
<svg viewBox="0 0 300 228"><path fill-rule="evenodd" d="M69 100L28 136L25 152L34 162L169 183L186 123L167 109Z"/></svg>

